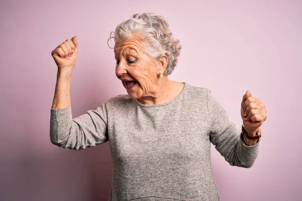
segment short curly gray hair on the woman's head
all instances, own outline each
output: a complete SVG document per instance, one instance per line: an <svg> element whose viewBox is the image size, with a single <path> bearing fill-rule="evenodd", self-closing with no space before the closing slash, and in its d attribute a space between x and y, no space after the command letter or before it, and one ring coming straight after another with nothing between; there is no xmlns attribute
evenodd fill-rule
<svg viewBox="0 0 302 201"><path fill-rule="evenodd" d="M107 44L109 46L109 40L112 38L117 43L140 31L144 33L143 40L147 44L144 51L150 58L159 59L163 54L167 55L168 65L164 75L170 75L178 62L181 45L178 39L172 37L169 24L162 16L154 13L134 14L129 20L117 25L115 32L110 33Z"/></svg>

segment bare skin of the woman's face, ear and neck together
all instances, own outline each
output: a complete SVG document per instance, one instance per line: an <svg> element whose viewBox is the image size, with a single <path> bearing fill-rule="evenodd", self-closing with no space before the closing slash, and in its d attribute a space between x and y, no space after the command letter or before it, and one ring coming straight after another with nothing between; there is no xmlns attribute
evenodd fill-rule
<svg viewBox="0 0 302 201"><path fill-rule="evenodd" d="M130 97L138 99L141 104L169 102L182 91L184 83L169 80L166 75L159 77L157 74L163 74L167 67L168 57L164 54L154 60L143 51L144 45L139 34L115 44L116 77L137 81L133 88L126 90ZM125 82L121 82L125 87Z"/></svg>

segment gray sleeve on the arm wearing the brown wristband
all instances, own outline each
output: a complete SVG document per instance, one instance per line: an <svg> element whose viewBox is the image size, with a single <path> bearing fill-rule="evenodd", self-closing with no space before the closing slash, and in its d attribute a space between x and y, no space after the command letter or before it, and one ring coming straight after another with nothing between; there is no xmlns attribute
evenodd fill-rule
<svg viewBox="0 0 302 201"><path fill-rule="evenodd" d="M241 130L229 119L211 90L207 92L208 112L211 119L210 141L232 166L250 168L258 156L259 140L247 146L241 139Z"/></svg>

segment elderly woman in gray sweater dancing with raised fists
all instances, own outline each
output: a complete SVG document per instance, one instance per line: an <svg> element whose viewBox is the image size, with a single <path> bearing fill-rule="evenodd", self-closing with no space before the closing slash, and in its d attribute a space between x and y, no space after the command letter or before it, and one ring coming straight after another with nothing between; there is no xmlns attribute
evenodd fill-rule
<svg viewBox="0 0 302 201"><path fill-rule="evenodd" d="M161 16L135 14L113 33L115 73L128 94L79 117L72 118L70 106L77 37L52 51L58 73L51 142L80 150L109 141L109 200L219 200L210 143L230 165L251 167L266 120L264 104L247 91L238 129L210 89L169 80L181 46Z"/></svg>

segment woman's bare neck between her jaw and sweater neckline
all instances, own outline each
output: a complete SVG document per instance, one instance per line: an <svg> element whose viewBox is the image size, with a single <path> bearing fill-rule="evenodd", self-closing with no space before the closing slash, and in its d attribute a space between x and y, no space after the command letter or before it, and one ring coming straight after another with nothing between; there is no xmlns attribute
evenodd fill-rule
<svg viewBox="0 0 302 201"><path fill-rule="evenodd" d="M169 80L167 76L163 76L157 85L154 85L153 91L148 95L137 98L138 102L144 105L157 105L169 102L173 99L173 88L177 82Z"/></svg>

